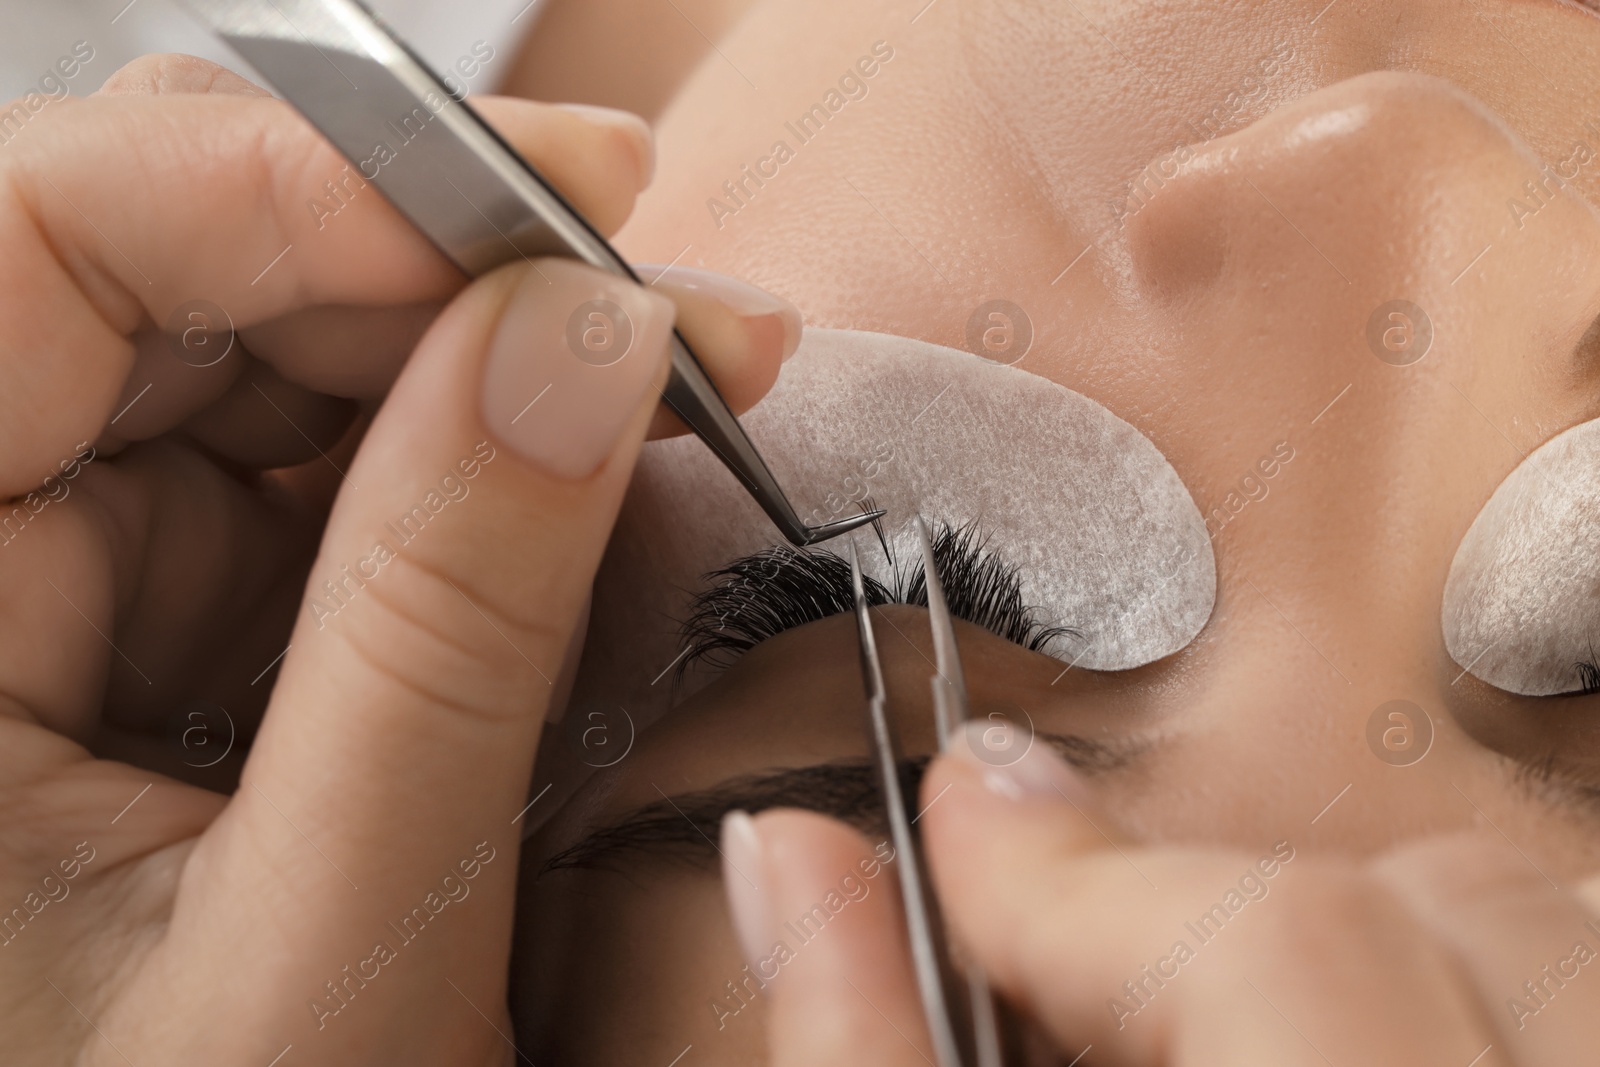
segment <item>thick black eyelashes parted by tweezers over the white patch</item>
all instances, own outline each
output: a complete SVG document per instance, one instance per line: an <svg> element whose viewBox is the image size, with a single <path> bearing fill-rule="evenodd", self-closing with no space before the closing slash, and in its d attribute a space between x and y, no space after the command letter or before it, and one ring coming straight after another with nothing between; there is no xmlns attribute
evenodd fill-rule
<svg viewBox="0 0 1600 1067"><path fill-rule="evenodd" d="M866 506L870 507L870 501ZM926 606L922 561L896 561L882 526L874 523L874 528L890 557L891 577L888 585L866 577L867 603ZM1059 638L1080 637L1072 627L1045 625L1034 617L1034 609L1022 603L1021 568L990 552L989 537L976 523L934 523L931 533L944 597L957 619L1035 653L1046 651ZM826 549L774 545L712 571L706 581L712 587L694 597L683 622L686 651L678 664L680 678L691 664L726 667L784 630L854 606L850 563Z"/></svg>

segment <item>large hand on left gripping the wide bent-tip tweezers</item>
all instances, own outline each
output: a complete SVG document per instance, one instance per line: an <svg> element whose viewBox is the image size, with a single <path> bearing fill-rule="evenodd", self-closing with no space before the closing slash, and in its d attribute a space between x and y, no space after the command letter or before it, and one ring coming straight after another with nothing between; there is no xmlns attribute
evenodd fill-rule
<svg viewBox="0 0 1600 1067"><path fill-rule="evenodd" d="M659 293L741 408L798 315L563 261L461 291L259 90L109 88L0 146L0 1059L510 1064L514 819L656 418ZM605 230L648 181L626 117L483 109ZM232 797L134 766L224 747L216 707L211 749L168 737L197 699L235 752L259 718Z"/></svg>

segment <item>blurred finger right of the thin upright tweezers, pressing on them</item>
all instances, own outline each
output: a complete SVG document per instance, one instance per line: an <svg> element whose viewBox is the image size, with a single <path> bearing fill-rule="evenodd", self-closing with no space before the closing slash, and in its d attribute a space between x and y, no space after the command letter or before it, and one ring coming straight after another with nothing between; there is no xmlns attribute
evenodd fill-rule
<svg viewBox="0 0 1600 1067"><path fill-rule="evenodd" d="M1491 1043L1450 953L1374 881L1291 841L1114 845L1045 745L1010 765L976 745L923 781L944 913L1067 1059L1093 1045L1109 1064L1466 1064Z"/></svg>

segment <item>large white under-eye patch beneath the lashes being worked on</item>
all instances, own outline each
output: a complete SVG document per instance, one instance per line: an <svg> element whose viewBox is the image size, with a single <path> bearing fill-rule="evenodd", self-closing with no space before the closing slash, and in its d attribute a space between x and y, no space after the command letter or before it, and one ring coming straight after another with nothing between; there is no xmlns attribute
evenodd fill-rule
<svg viewBox="0 0 1600 1067"><path fill-rule="evenodd" d="M976 522L1021 568L1051 653L1125 670L1184 648L1216 598L1216 563L1194 499L1165 456L1088 397L925 341L808 330L776 389L744 419L806 522L888 510L901 558L918 512ZM869 573L885 561L851 534ZM574 707L654 718L680 651L674 619L707 571L781 536L694 438L648 445L595 585ZM843 539L819 545L838 553Z"/></svg>

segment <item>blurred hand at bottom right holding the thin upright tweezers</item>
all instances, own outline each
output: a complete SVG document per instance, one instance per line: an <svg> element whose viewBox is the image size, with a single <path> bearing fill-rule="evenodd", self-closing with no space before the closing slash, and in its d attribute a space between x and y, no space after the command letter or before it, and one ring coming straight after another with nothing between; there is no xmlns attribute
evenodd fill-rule
<svg viewBox="0 0 1600 1067"><path fill-rule="evenodd" d="M1597 885L1557 889L1490 830L1371 862L1114 845L1045 745L941 758L922 805L946 918L1030 1021L1029 1064L1571 1067L1600 1048ZM774 923L870 856L816 814L755 827ZM898 902L862 905L774 968L774 1067L931 1062Z"/></svg>

